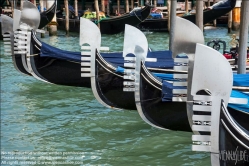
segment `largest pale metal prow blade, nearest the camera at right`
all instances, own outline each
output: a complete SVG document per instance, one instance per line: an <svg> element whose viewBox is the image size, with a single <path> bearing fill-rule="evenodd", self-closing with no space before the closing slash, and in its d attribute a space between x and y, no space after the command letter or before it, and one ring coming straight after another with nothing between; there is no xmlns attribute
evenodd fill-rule
<svg viewBox="0 0 249 166"><path fill-rule="evenodd" d="M218 51L197 44L194 59L191 95L208 89L227 105L233 85L233 72L227 59Z"/></svg>

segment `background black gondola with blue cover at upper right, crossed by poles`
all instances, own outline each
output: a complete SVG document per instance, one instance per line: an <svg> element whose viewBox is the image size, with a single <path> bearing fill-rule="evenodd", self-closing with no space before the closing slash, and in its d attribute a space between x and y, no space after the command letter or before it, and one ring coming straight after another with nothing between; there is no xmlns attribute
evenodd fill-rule
<svg viewBox="0 0 249 166"><path fill-rule="evenodd" d="M226 13L230 12L236 4L236 0L226 0L221 1L215 5L211 9L205 9L203 11L203 24L207 24ZM193 23L195 23L195 14L192 15L184 15L182 18L187 19ZM158 31L163 32L168 30L168 18L159 18L159 19L146 19L142 23L138 25L138 28L142 31Z"/></svg>

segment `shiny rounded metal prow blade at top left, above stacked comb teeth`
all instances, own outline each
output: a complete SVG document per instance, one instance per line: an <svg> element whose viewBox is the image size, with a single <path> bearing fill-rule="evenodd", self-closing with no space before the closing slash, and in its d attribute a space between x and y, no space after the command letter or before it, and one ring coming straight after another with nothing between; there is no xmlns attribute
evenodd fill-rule
<svg viewBox="0 0 249 166"><path fill-rule="evenodd" d="M23 2L20 23L25 23L32 29L36 30L39 27L40 19L40 12L36 6L28 1Z"/></svg>

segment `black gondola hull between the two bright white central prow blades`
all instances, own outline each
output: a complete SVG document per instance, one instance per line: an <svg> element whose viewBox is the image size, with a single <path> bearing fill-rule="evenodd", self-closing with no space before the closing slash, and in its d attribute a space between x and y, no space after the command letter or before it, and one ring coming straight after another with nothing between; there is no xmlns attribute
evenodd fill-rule
<svg viewBox="0 0 249 166"><path fill-rule="evenodd" d="M95 80L98 96L110 107L135 110L134 92L123 91L123 74L116 73L111 64L103 62L101 55L96 54Z"/></svg>

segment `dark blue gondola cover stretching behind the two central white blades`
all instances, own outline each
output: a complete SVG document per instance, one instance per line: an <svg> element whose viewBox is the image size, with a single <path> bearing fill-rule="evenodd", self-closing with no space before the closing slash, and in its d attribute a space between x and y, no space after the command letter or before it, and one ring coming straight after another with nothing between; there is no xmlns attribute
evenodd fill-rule
<svg viewBox="0 0 249 166"><path fill-rule="evenodd" d="M73 62L81 62L81 53L65 51L53 46L50 46L42 42L41 47L41 57L50 57L55 59L68 60ZM114 65L124 67L124 58L122 52L116 53L101 53L101 56L108 62L113 63ZM146 62L146 66L154 68L164 68L172 69L174 66L174 61L172 59L171 51L153 51L148 52L148 58L157 58L157 62Z"/></svg>

